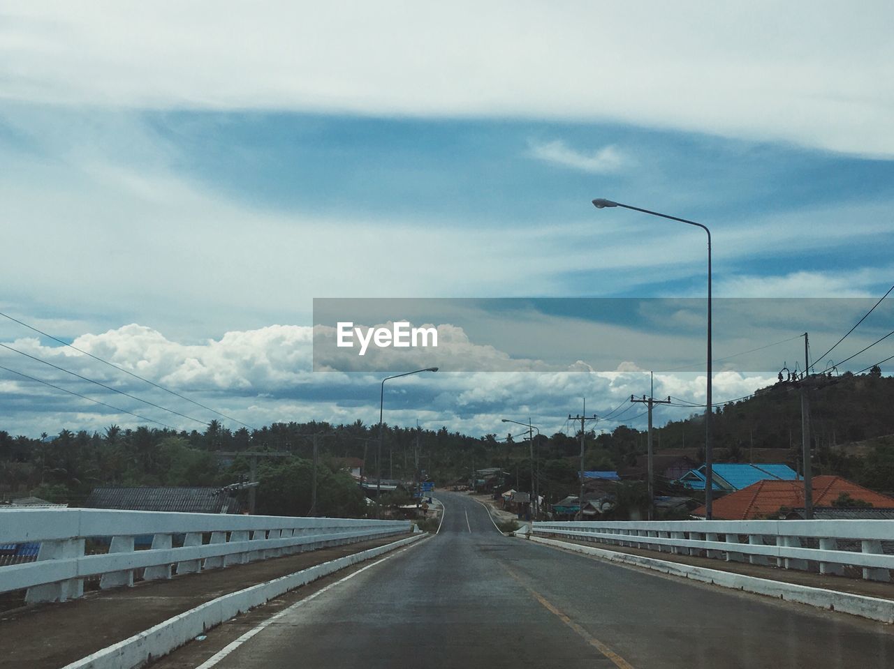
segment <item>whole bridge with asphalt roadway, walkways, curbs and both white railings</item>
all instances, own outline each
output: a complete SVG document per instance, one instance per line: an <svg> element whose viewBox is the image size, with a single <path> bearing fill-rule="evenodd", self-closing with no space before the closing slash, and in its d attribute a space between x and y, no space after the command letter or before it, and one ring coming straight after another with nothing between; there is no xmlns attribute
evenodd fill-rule
<svg viewBox="0 0 894 669"><path fill-rule="evenodd" d="M26 537L6 520L21 512L0 512L0 544L43 542L38 562L0 566L0 590L27 587L34 602L2 616L0 666L894 666L883 622L894 610L888 521L535 523L519 538L504 536L475 498L438 498L443 521L432 534L263 516L92 526L87 510L72 510L80 525L53 526L50 539L49 526ZM97 531L114 552L110 543L88 554ZM146 535L150 548L133 550ZM134 570L150 579L129 588ZM105 586L81 596L90 578ZM172 589L186 610L170 604ZM118 606L104 608L108 598ZM163 600L180 612L123 631L139 606ZM166 631L153 635L159 625ZM116 626L120 639L105 633ZM100 648L41 650L77 645L78 634L101 637Z"/></svg>

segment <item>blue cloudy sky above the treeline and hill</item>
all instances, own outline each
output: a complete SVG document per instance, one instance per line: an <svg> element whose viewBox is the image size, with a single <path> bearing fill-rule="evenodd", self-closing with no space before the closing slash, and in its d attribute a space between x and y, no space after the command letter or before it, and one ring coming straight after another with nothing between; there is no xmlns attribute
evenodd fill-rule
<svg viewBox="0 0 894 669"><path fill-rule="evenodd" d="M708 225L715 297L839 298L747 342L748 310L719 308L715 401L802 360L805 330L825 368L892 329L886 300L822 356L894 283L890 3L322 5L5 2L0 311L237 428L378 420L381 374L312 371L314 298L567 298L490 330L426 314L481 370L390 382L385 420L550 433L648 370L704 403L695 334L568 313L704 297L704 233L607 197ZM549 369L494 334L527 331L556 342ZM0 343L0 430L221 418L3 317Z"/></svg>

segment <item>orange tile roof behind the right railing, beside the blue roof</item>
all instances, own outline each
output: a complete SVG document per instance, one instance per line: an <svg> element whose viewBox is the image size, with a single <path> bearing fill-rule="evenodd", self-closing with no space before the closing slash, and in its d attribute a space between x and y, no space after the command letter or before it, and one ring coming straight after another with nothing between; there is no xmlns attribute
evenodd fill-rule
<svg viewBox="0 0 894 669"><path fill-rule="evenodd" d="M894 498L873 492L840 476L814 476L814 506L832 506L842 492L854 499L869 502L875 508L894 508ZM744 521L754 518L773 517L780 506L804 507L804 481L757 481L747 488L730 493L713 502L716 520ZM704 506L693 515L704 516Z"/></svg>

